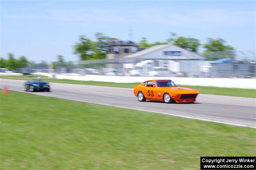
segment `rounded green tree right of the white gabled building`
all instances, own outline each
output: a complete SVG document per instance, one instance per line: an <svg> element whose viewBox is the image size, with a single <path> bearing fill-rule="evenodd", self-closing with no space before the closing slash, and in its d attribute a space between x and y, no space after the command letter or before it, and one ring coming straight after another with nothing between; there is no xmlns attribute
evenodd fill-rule
<svg viewBox="0 0 256 170"><path fill-rule="evenodd" d="M217 38L216 40L213 38L207 38L207 41L208 42L204 45L204 48L206 49L205 52L226 51L234 49L229 45L224 45L226 41L221 38Z"/></svg>

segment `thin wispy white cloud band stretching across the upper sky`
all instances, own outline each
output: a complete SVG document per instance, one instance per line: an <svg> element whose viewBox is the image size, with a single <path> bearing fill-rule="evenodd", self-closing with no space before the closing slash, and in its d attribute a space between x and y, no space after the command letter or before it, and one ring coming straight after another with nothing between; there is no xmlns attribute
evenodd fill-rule
<svg viewBox="0 0 256 170"><path fill-rule="evenodd" d="M228 11L224 9L172 10L151 9L86 9L52 10L37 14L12 15L11 18L51 19L69 22L150 23L188 28L221 28L255 25L255 11Z"/></svg>

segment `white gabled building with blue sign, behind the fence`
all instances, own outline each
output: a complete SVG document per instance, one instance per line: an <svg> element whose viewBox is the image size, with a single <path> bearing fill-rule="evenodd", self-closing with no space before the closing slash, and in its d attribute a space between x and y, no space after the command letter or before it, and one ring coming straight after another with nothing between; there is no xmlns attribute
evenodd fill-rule
<svg viewBox="0 0 256 170"><path fill-rule="evenodd" d="M155 65L152 64L151 67L168 67L171 73L185 77L199 77L202 74L201 66L211 65L211 61L206 61L207 58L202 55L172 44L156 45L122 58L162 61L162 65L155 62ZM123 67L125 68L125 66ZM150 70L150 66L145 66L145 68Z"/></svg>

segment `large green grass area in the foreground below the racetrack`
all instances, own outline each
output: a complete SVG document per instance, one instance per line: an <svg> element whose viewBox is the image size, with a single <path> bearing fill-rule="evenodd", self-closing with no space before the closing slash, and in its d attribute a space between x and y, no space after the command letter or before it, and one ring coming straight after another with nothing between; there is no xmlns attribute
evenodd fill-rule
<svg viewBox="0 0 256 170"><path fill-rule="evenodd" d="M1 169L199 169L255 156L255 129L9 91Z"/></svg>

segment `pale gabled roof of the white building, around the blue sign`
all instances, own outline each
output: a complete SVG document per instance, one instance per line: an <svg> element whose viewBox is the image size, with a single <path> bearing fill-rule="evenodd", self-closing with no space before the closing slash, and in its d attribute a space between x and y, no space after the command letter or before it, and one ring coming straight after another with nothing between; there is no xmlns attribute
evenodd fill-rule
<svg viewBox="0 0 256 170"><path fill-rule="evenodd" d="M169 60L175 60L175 59L180 59L180 60L206 60L206 58L204 58L202 55L197 54L197 53L192 52L192 51L189 51L189 50L184 49L184 48L179 47L179 46L176 46L176 47L182 49L183 51L186 50L188 52L183 53L182 56L168 56L168 55L147 56L148 54L166 49L166 48L171 47L171 46L176 46L176 45L172 45L172 44L156 45L156 46L152 46L150 48L141 50L139 52L135 52L135 53L126 55L122 58L169 59Z"/></svg>

